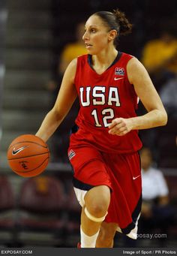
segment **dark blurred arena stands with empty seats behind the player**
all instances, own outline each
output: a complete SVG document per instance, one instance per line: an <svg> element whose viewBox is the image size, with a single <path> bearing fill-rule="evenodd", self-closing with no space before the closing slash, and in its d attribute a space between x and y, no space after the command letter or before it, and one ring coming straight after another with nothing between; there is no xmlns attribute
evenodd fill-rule
<svg viewBox="0 0 177 256"><path fill-rule="evenodd" d="M115 8L124 11L133 23L133 32L120 38L118 50L136 56L145 65L169 115L165 127L139 132L149 150L149 165L160 175L156 181L148 179L150 184L144 182L146 191L157 188L157 182L164 178L159 191L145 198L148 210L142 215L139 232L145 233L148 226L151 229L146 233L157 236L144 236L132 243L117 234L115 247L176 245L176 0L0 1L0 245L76 247L80 239L80 206L67 155L78 103L49 139L51 158L42 175L32 179L17 176L7 164L6 153L17 136L35 134L55 101L68 62L85 53L80 38L89 15ZM143 113L139 102L138 114ZM143 168L148 169L147 164ZM153 214L164 218L153 223L153 218L148 218ZM145 221L149 222L144 227Z"/></svg>

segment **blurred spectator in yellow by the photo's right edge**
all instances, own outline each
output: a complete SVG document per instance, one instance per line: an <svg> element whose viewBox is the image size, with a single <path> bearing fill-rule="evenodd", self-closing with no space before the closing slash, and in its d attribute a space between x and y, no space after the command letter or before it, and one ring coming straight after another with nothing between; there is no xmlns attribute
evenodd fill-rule
<svg viewBox="0 0 177 256"><path fill-rule="evenodd" d="M148 41L142 49L142 64L158 87L177 73L177 38L169 29Z"/></svg>

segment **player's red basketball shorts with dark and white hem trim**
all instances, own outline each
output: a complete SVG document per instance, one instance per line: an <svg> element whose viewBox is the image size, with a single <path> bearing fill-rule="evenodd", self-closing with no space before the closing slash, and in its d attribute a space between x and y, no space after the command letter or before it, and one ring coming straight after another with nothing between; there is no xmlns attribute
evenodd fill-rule
<svg viewBox="0 0 177 256"><path fill-rule="evenodd" d="M109 186L111 200L105 221L117 223L118 231L136 239L142 203L139 153L109 154L83 146L68 149L68 157L74 170L74 188L86 192L96 185Z"/></svg>

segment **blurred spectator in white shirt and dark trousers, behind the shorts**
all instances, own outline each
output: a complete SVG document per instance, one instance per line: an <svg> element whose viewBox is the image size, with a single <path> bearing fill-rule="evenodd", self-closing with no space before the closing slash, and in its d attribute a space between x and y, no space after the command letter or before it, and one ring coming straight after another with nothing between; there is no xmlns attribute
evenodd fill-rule
<svg viewBox="0 0 177 256"><path fill-rule="evenodd" d="M139 218L139 233L168 233L173 221L173 209L169 203L169 188L163 173L153 166L151 150L140 151L142 164L142 212ZM161 239L160 242L162 242ZM164 240L163 240L164 242Z"/></svg>

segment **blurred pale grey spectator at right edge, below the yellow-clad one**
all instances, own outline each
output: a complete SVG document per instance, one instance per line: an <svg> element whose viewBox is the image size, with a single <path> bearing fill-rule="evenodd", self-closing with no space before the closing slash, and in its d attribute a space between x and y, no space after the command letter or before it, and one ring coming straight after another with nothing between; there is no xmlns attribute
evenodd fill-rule
<svg viewBox="0 0 177 256"><path fill-rule="evenodd" d="M159 95L169 118L177 119L177 73L163 84Z"/></svg>

